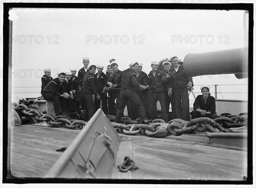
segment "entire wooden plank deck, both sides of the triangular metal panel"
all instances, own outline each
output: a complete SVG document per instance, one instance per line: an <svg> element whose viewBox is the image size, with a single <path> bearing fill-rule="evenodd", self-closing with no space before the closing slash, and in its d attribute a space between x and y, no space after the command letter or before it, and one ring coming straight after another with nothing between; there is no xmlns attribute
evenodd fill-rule
<svg viewBox="0 0 256 188"><path fill-rule="evenodd" d="M15 177L55 177L49 169L80 129L21 125L12 127L11 172ZM151 138L119 134L121 142L112 172L96 174L102 179L180 179L242 181L247 176L247 148L209 143L201 134ZM136 171L122 173L118 165L125 156L135 161Z"/></svg>

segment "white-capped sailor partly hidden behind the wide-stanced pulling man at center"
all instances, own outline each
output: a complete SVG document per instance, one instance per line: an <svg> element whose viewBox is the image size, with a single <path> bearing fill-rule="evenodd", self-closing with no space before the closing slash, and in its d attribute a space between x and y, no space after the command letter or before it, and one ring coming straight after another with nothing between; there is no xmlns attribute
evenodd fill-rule
<svg viewBox="0 0 256 188"><path fill-rule="evenodd" d="M141 85L149 87L150 80L148 78L148 75L145 72L142 71L142 66L143 66L143 64L138 64L138 67L137 67L137 70L136 70L137 81ZM147 118L149 118L146 92L147 92L146 90L143 91L142 89L135 88L135 93L140 97L140 100L143 103L143 107L145 109L146 116L147 116ZM127 111L128 111L128 116L132 120L135 120L139 117L137 109L132 104L131 101L128 101L128 103L127 103Z"/></svg>

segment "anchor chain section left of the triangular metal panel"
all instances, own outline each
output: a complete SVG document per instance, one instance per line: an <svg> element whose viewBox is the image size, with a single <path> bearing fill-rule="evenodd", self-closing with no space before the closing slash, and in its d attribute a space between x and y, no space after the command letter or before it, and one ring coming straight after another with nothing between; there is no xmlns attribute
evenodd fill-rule
<svg viewBox="0 0 256 188"><path fill-rule="evenodd" d="M86 125L85 121L77 120L77 119L72 119L72 120L68 120L65 118L55 119L52 116L39 112L38 110L29 108L25 104L19 104L15 107L12 107L12 109L19 110L21 113L27 116L31 116L36 123L38 123L39 121L46 121L48 124L67 127L70 129L75 129L75 128L82 129Z"/></svg>

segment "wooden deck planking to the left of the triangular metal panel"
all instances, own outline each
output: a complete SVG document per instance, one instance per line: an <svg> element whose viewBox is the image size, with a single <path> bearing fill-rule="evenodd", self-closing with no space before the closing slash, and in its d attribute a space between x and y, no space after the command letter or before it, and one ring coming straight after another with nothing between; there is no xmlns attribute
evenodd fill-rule
<svg viewBox="0 0 256 188"><path fill-rule="evenodd" d="M13 126L11 130L11 173L18 177L49 177L49 169L62 155L56 149L68 146L80 129Z"/></svg>

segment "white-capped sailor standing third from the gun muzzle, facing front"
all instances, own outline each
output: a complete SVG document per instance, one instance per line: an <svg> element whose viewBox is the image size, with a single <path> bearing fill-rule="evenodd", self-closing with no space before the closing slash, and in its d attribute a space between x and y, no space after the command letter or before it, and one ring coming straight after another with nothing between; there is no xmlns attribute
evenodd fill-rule
<svg viewBox="0 0 256 188"><path fill-rule="evenodd" d="M156 61L151 62L152 70L149 72L148 77L151 83L151 96L149 102L149 116L153 119L157 118L157 101L160 101L162 119L166 122L169 121L168 113L166 110L166 76L165 72L158 70L159 63ZM168 87L168 95L171 95L171 87Z"/></svg>

